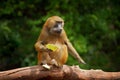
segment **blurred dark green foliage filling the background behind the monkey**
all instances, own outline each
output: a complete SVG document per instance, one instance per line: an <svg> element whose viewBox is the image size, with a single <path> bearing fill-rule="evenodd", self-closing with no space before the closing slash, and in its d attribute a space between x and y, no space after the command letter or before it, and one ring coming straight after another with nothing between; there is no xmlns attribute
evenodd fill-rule
<svg viewBox="0 0 120 80"><path fill-rule="evenodd" d="M37 64L34 44L46 19L65 20L66 33L86 61L68 65L120 71L120 0L1 0L0 70Z"/></svg>

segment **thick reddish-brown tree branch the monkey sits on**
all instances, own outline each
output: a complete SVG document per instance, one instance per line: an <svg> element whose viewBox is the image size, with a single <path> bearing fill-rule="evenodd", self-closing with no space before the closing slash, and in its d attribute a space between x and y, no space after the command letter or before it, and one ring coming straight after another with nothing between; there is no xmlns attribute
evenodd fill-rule
<svg viewBox="0 0 120 80"><path fill-rule="evenodd" d="M120 72L83 70L78 66L53 67L31 66L0 72L0 80L120 80Z"/></svg>

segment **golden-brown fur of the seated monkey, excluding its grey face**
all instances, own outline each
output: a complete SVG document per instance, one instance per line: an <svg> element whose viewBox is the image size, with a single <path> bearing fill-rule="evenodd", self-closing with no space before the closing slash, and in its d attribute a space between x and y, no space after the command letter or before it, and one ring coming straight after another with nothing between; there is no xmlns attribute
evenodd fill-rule
<svg viewBox="0 0 120 80"><path fill-rule="evenodd" d="M57 22L61 23L62 25L62 31L60 33L54 31L54 26ZM35 43L35 48L38 51L38 64L55 64L52 62L54 59L57 62L55 65L62 66L67 61L68 51L79 62L84 63L84 61L69 42L63 26L64 20L58 16L52 16L48 18L43 25L41 34ZM54 44L58 47L58 49L56 51L50 51L45 47L47 44Z"/></svg>

